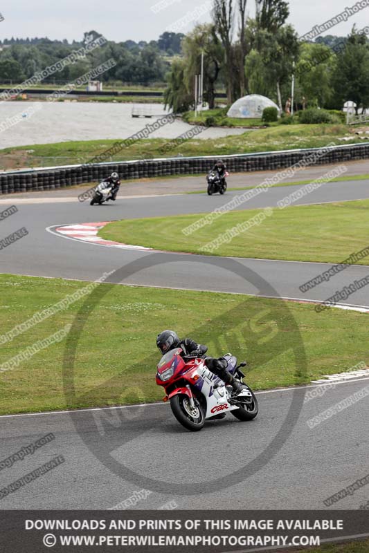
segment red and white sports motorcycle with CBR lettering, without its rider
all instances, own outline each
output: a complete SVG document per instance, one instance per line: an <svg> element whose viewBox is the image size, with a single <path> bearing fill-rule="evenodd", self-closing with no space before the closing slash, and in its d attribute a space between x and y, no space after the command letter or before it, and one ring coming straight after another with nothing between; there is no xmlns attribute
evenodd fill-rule
<svg viewBox="0 0 369 553"><path fill-rule="evenodd" d="M227 370L244 384L244 390L235 395L232 386L226 384L209 371L201 357L182 357L181 348L168 351L157 366L156 384L163 386L165 397L170 401L172 413L183 427L199 431L206 419L220 418L232 413L239 420L252 420L258 415L258 400L249 386L242 382L244 373L237 366L237 359L231 353L224 355Z"/></svg>

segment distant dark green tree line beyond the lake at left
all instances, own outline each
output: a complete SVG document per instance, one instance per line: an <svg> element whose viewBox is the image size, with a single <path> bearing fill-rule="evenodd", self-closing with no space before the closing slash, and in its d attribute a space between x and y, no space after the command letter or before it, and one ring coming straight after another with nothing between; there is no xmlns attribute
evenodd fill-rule
<svg viewBox="0 0 369 553"><path fill-rule="evenodd" d="M82 41L69 43L34 39L4 39L0 42L0 82L21 83L47 66L52 66L68 56L73 50L84 45L87 37L98 37L95 30L84 32ZM170 57L181 53L181 33L164 32L157 41L123 42L108 41L105 46L93 50L87 57L77 63L66 66L63 71L44 79L44 83L66 83L77 79L103 62L113 57L116 67L103 75L102 81L127 82L132 84L155 84L165 82L165 75L170 70Z"/></svg>

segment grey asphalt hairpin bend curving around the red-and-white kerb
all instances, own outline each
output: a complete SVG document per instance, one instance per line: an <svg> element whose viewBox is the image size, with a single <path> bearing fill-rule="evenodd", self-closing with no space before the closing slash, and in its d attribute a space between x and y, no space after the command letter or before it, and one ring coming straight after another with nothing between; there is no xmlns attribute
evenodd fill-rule
<svg viewBox="0 0 369 553"><path fill-rule="evenodd" d="M244 209L275 206L278 200L291 194L299 187L276 187L266 194L260 194L244 204ZM75 192L75 195L78 193ZM182 194L147 198L118 198L115 204L91 207L88 202L72 202L68 198L58 198L57 203L19 203L17 196L0 200L6 205L16 204L19 213L1 222L1 235L7 236L19 227L26 227L29 235L12 247L1 251L1 272L28 274L39 277L62 277L66 279L96 280L105 271L121 268L136 259L147 256L137 251L114 250L77 243L46 232L46 228L64 224L97 221L115 221L123 218L141 218L186 213L209 212L220 207L240 192L229 192L225 197L206 194ZM365 180L333 182L316 189L300 202L324 203L332 201L369 198L369 186ZM52 199L52 198L50 198ZM32 202L32 199L22 202ZM242 207L240 207L241 209ZM216 234L215 234L216 236ZM189 259L191 257L191 259ZM213 268L209 272L209 257L168 254L163 256L172 265L163 274L163 267L143 270L124 280L124 283L154 285L173 288L192 288L221 292L242 292L263 294L260 289L235 277L226 268ZM215 261L222 263L219 257ZM277 295L286 298L324 300L344 285L365 277L368 268L351 266L339 273L328 283L323 283L306 294L298 286L316 277L327 269L323 263L300 263L286 261L265 261L240 259L239 263L260 274L271 284ZM205 263L204 263L205 262ZM174 265L175 263L175 265ZM226 260L222 263L225 267ZM350 296L350 305L368 306L365 290Z"/></svg>

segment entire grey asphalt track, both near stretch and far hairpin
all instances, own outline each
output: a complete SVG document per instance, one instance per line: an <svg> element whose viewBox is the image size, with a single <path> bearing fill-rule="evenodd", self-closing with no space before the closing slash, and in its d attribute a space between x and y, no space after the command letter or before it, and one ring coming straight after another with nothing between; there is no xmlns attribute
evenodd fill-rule
<svg viewBox="0 0 369 553"><path fill-rule="evenodd" d="M244 209L274 206L298 188L270 189L267 194L247 202ZM46 228L209 212L236 194L240 192L228 192L224 198L209 198L205 194L118 198L114 205L101 207L90 207L88 202L79 203L76 198L72 201L67 197L54 202L50 194L46 203L36 203L38 200L33 198L17 203L17 196L1 198L1 209L8 205L17 205L19 209L17 214L1 222L1 237L19 227L26 227L29 232L1 251L1 272L95 280L103 272L118 270L152 254L80 243L55 236ZM369 198L368 182L353 180L323 185L298 203L361 198ZM258 286L233 274L232 260L161 255L160 265L130 274L121 282L321 301L354 279L369 274L368 267L351 266L330 282L302 294L298 286L329 265L238 259L237 263L260 275ZM275 293L271 294L270 290ZM352 294L348 305L369 310L365 289ZM63 455L65 462L37 482L3 498L1 507L107 509L145 488L152 493L138 501L136 508L159 509L174 501L180 509L325 509L325 498L368 472L363 463L369 452L368 396L313 429L307 426L307 420L368 384L369 378L339 382L322 397L305 404L307 387L260 392L260 413L253 422L238 422L228 414L224 420L208 422L200 433L186 432L174 420L167 404L82 410L73 414L3 416L0 418L1 459L46 433L53 432L55 440L13 467L0 471L0 487L57 455ZM287 424L291 433L287 441L276 444L276 453L272 451L269 458L263 458L263 451L282 428L289 409ZM104 426L105 418L110 418L112 423ZM93 447L87 447L91 436ZM121 467L120 474L110 471L102 462L107 451ZM253 462L256 458L258 462ZM165 486L161 481L168 484ZM363 487L331 508L359 508L368 499L368 490Z"/></svg>

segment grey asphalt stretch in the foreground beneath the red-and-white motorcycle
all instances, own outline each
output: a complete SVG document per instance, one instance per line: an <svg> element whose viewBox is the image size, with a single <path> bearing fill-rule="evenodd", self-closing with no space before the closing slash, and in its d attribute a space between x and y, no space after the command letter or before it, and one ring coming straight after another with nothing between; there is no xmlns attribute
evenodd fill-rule
<svg viewBox="0 0 369 553"><path fill-rule="evenodd" d="M212 491L207 494L201 494L201 489L211 480L242 470L264 450L289 409L294 392L259 394L261 409L255 421L238 422L228 414L224 420L206 423L199 433L183 429L166 404L141 408L133 420L125 415L134 408L119 410L124 411L121 426L109 426L111 455L121 461L123 467L136 471L135 482L111 474L91 454L76 435L69 414L2 417L2 451L17 451L21 445L46 433L55 434L55 442L25 458L21 466L18 462L3 471L2 485L17 480L59 454L64 456L65 462L44 480L40 478L1 500L1 507L108 509L132 496L134 491L147 488L144 478L150 476L168 481L167 494L154 489L137 508L158 509L174 500L183 509L325 509L323 500L368 472L363 462L368 458L368 424L363 416L368 411L368 398L312 430L306 421L312 411L324 411L368 384L369 379L340 384L320 399L308 402L302 412L296 413L298 421L291 437L267 465L240 483L233 484L229 478L229 487L217 489L216 483L210 485ZM299 393L305 393L305 389ZM100 413L95 411L96 418ZM91 413L81 411L74 416L86 433L92 431ZM147 421L152 423L150 431L145 431ZM136 433L138 426L141 435L122 445L125 435ZM100 451L100 454L105 452ZM253 468L258 469L258 466ZM176 494L178 482L187 482L193 495ZM204 483L201 485L201 482ZM332 509L359 508L367 499L368 493L363 488L334 504Z"/></svg>

